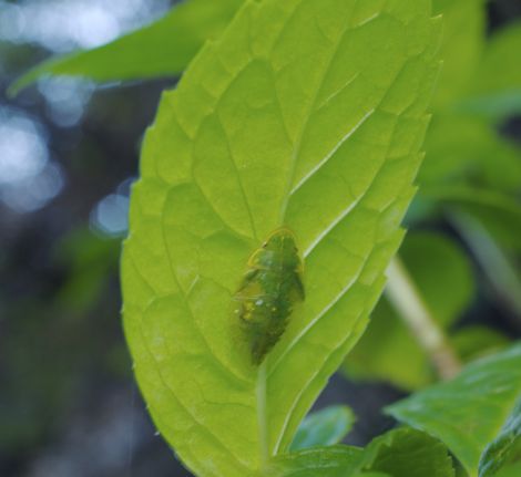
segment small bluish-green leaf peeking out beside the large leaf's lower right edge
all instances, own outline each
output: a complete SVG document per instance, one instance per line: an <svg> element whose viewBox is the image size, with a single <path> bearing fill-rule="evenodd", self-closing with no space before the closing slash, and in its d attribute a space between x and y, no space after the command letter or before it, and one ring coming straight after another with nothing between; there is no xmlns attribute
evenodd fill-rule
<svg viewBox="0 0 521 477"><path fill-rule="evenodd" d="M330 446L341 442L356 417L347 406L330 406L308 415L298 427L289 450Z"/></svg>

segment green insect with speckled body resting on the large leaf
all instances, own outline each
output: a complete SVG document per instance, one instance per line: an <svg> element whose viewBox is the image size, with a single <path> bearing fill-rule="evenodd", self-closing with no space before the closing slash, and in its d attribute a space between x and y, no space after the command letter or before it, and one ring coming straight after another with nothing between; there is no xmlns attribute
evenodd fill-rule
<svg viewBox="0 0 521 477"><path fill-rule="evenodd" d="M264 361L286 330L295 304L304 300L303 272L295 236L287 228L272 232L249 257L234 300L255 365Z"/></svg>

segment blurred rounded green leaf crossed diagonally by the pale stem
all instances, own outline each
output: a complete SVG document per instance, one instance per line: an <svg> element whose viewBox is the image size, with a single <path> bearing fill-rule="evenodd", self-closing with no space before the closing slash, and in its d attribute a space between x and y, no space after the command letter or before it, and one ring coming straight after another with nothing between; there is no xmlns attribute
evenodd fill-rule
<svg viewBox="0 0 521 477"><path fill-rule="evenodd" d="M411 232L400 255L432 317L448 329L470 304L474 291L464 252L439 234ZM355 379L384 380L408 391L423 387L435 377L426 352L386 298L379 301L344 370Z"/></svg>

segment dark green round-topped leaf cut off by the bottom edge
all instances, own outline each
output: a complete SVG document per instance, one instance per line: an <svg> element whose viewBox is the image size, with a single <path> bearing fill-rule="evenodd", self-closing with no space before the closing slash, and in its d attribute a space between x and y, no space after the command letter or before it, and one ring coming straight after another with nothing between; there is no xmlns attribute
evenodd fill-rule
<svg viewBox="0 0 521 477"><path fill-rule="evenodd" d="M372 440L362 457L362 469L390 477L453 477L447 447L412 428L391 431Z"/></svg>

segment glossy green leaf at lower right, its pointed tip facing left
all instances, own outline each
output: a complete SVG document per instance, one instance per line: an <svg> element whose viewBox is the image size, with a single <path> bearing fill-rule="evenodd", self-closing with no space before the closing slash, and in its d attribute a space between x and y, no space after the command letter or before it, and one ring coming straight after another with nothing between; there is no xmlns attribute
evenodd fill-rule
<svg viewBox="0 0 521 477"><path fill-rule="evenodd" d="M448 445L471 477L521 397L521 344L470 364L456 380L387 408Z"/></svg>

